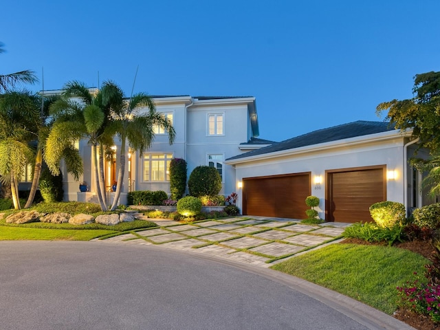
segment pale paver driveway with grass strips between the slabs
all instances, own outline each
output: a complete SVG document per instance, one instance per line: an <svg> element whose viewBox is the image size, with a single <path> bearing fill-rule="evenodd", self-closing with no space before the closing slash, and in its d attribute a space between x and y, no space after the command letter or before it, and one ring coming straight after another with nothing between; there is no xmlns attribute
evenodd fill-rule
<svg viewBox="0 0 440 330"><path fill-rule="evenodd" d="M249 216L188 224L159 219L152 221L159 228L122 234L102 241L158 245L270 267L314 248L338 243L340 234L350 225L333 222L305 225L296 219Z"/></svg>

